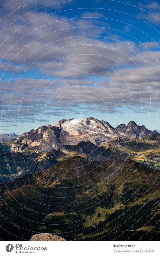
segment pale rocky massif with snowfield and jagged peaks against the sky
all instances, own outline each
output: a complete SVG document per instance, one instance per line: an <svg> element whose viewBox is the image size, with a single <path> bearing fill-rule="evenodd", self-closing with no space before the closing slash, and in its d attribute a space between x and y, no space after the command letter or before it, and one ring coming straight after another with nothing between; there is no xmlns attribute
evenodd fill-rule
<svg viewBox="0 0 160 256"><path fill-rule="evenodd" d="M136 125L134 121L128 125L121 124L113 128L108 122L94 117L85 119L63 119L56 125L44 125L36 130L22 134L12 144L13 152L31 151L48 152L61 145L77 145L81 141L90 141L96 146L106 144L114 137L143 138L156 133Z"/></svg>

